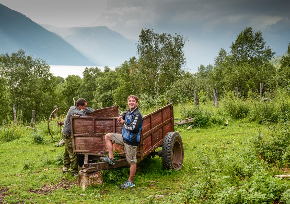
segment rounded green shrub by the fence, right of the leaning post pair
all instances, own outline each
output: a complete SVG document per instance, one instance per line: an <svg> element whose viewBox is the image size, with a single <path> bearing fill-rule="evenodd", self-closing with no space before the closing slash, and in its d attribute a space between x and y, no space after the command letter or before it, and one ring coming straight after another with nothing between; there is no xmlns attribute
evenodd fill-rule
<svg viewBox="0 0 290 204"><path fill-rule="evenodd" d="M222 103L224 110L234 119L245 118L250 111L249 105L244 100L236 98L234 92L226 92Z"/></svg>

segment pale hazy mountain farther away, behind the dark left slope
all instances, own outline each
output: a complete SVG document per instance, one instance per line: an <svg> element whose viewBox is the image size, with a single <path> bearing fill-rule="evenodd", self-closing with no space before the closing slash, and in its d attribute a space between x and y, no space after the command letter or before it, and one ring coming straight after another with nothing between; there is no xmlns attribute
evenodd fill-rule
<svg viewBox="0 0 290 204"><path fill-rule="evenodd" d="M136 40L129 40L106 26L60 28L39 25L63 37L96 64L117 66L136 55Z"/></svg>

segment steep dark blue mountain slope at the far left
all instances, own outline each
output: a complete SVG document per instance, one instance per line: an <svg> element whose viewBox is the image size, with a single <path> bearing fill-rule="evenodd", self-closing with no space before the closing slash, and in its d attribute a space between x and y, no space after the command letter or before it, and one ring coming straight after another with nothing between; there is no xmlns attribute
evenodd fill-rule
<svg viewBox="0 0 290 204"><path fill-rule="evenodd" d="M0 53L19 48L50 65L96 65L57 34L0 4Z"/></svg>

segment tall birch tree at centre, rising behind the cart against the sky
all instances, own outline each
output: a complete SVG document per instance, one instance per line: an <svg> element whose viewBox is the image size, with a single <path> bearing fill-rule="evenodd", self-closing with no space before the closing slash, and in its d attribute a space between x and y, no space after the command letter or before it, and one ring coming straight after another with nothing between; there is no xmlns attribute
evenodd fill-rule
<svg viewBox="0 0 290 204"><path fill-rule="evenodd" d="M142 81L144 92L160 94L184 74L184 39L182 35L158 34L152 29L142 29L136 43L139 55L135 75Z"/></svg>

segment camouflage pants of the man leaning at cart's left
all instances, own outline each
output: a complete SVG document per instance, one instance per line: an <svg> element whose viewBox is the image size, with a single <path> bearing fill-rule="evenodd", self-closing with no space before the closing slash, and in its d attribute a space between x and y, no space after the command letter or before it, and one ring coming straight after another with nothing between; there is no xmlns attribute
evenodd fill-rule
<svg viewBox="0 0 290 204"><path fill-rule="evenodd" d="M70 136L65 133L61 133L64 144L66 144L64 151L64 166L70 168L71 173L77 173L79 171L79 165L77 163L77 155L73 153L73 145Z"/></svg>

